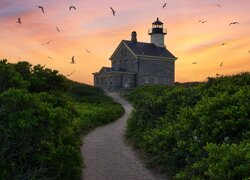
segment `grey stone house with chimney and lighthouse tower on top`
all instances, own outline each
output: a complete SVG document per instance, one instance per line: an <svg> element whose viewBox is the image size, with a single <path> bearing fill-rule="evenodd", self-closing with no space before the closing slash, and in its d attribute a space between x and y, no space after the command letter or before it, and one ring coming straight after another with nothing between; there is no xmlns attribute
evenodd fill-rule
<svg viewBox="0 0 250 180"><path fill-rule="evenodd" d="M116 91L146 84L174 85L177 58L166 49L167 31L158 18L148 34L151 43L138 42L135 31L131 41L122 40L110 57L111 67L93 73L94 86Z"/></svg>

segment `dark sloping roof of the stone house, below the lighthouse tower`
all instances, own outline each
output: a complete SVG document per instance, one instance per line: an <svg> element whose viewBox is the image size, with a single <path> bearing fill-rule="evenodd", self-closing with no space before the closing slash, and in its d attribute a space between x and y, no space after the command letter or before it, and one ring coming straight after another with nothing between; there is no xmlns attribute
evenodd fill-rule
<svg viewBox="0 0 250 180"><path fill-rule="evenodd" d="M171 52L166 48L157 47L153 43L145 42L131 42L123 40L123 42L133 51L136 55L141 56L158 56L177 59Z"/></svg>

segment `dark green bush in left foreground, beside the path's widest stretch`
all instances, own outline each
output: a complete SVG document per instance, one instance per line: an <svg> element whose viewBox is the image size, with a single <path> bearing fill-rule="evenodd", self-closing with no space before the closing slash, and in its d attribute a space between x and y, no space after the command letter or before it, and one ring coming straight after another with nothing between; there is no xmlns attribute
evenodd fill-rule
<svg viewBox="0 0 250 180"><path fill-rule="evenodd" d="M41 100L41 95L16 89L0 95L1 169L5 179L53 177L54 172L65 177L79 174L79 168L69 166L81 163L75 150L79 140L71 133L76 112L65 105L53 107ZM74 174L66 172L69 168Z"/></svg>

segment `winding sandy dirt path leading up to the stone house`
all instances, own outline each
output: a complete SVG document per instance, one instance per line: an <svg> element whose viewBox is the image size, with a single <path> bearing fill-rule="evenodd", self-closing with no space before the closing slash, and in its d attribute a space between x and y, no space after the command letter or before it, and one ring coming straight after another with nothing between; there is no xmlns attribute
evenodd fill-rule
<svg viewBox="0 0 250 180"><path fill-rule="evenodd" d="M117 93L109 93L122 104L125 114L115 121L96 128L84 137L81 153L86 168L84 180L154 180L158 179L147 170L131 147L125 144L126 120L132 106Z"/></svg>

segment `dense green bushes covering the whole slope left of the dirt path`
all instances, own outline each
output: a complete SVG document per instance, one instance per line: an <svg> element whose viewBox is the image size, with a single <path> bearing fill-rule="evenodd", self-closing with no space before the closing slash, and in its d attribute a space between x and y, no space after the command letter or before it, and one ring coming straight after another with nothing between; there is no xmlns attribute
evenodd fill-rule
<svg viewBox="0 0 250 180"><path fill-rule="evenodd" d="M81 135L123 113L101 90L28 62L0 61L0 83L0 179L79 179Z"/></svg>

